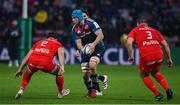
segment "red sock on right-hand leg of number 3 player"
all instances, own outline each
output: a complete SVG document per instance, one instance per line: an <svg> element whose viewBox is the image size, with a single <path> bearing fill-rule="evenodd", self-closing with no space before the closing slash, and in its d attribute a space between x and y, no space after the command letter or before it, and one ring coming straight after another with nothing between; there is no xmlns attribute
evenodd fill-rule
<svg viewBox="0 0 180 105"><path fill-rule="evenodd" d="M159 84L164 88L165 91L168 90L168 83L160 72L156 73L155 79L159 82Z"/></svg>

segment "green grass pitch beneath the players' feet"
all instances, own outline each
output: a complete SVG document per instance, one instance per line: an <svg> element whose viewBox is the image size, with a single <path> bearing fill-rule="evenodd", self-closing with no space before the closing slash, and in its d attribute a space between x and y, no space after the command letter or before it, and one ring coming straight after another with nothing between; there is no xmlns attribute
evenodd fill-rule
<svg viewBox="0 0 180 105"><path fill-rule="evenodd" d="M94 99L85 98L87 93L82 81L80 65L65 66L65 88L71 93L63 99L57 99L55 76L42 72L33 75L23 97L14 99L19 89L21 78L15 79L13 74L17 68L8 68L0 64L0 104L180 104L180 66L168 68L162 66L161 72L174 90L174 98L167 101L166 93L156 83L164 95L161 102L154 100L153 94L143 84L136 66L99 65L98 72L109 77L109 87L103 90L103 96ZM101 84L101 82L100 82Z"/></svg>

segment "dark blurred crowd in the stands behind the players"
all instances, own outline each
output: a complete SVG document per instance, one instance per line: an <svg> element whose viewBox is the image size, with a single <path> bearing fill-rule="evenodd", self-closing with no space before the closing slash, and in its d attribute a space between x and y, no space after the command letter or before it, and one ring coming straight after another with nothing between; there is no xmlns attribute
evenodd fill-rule
<svg viewBox="0 0 180 105"><path fill-rule="evenodd" d="M58 32L63 44L72 44L71 11L86 9L105 35L107 46L120 46L120 37L147 18L173 47L180 46L180 0L28 0L28 15L33 21L33 41L49 31ZM5 30L22 15L22 0L0 0L0 45L5 45Z"/></svg>

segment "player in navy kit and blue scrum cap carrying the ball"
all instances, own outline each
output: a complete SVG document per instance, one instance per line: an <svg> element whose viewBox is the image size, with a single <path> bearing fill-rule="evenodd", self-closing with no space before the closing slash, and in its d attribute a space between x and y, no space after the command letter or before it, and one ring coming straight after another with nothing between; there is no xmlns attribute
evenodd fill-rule
<svg viewBox="0 0 180 105"><path fill-rule="evenodd" d="M98 78L103 81L107 88L107 76L97 75L97 65L102 60L105 46L103 43L104 35L100 26L93 19L83 17L82 10L72 12L72 37L76 43L78 53L81 53L86 44L90 44L91 55L81 53L81 69L83 72L84 83L88 89L87 97L101 95ZM98 91L96 91L98 90Z"/></svg>

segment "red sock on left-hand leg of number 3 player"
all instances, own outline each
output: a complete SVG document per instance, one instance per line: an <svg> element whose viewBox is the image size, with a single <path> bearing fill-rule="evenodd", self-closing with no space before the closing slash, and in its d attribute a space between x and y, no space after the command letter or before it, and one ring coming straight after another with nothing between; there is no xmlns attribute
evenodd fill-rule
<svg viewBox="0 0 180 105"><path fill-rule="evenodd" d="M159 90L156 88L153 81L149 77L144 77L143 82L154 93L155 96L159 95Z"/></svg>

